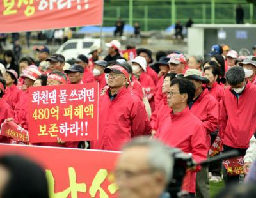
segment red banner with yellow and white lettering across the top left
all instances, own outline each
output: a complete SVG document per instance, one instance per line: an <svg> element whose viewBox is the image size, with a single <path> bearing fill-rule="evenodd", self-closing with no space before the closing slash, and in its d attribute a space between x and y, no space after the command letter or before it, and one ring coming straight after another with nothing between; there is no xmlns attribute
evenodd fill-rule
<svg viewBox="0 0 256 198"><path fill-rule="evenodd" d="M0 15L1 33L100 25L103 1L3 0Z"/></svg>

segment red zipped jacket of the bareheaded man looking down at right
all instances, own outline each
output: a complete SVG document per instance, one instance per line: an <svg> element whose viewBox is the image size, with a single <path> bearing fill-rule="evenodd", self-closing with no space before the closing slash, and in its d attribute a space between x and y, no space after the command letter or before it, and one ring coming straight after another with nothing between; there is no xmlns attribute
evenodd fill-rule
<svg viewBox="0 0 256 198"><path fill-rule="evenodd" d="M237 99L230 87L226 88L221 102L220 137L223 144L232 148L248 148L256 129L256 87L247 82Z"/></svg>

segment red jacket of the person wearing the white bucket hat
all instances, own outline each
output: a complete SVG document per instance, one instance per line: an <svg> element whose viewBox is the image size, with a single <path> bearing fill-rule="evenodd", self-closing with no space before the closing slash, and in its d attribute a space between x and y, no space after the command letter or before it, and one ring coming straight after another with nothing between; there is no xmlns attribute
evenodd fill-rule
<svg viewBox="0 0 256 198"><path fill-rule="evenodd" d="M136 80L135 78L133 79ZM142 88L144 89L145 96L147 97L151 107L151 111L154 112L155 110L154 94L156 91L156 86L152 78L146 72L142 72L138 81L140 82Z"/></svg>

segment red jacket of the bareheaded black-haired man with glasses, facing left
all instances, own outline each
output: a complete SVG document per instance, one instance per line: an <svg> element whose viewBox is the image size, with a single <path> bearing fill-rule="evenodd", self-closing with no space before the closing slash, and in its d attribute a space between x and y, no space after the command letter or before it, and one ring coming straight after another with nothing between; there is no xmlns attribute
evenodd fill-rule
<svg viewBox="0 0 256 198"><path fill-rule="evenodd" d="M207 158L208 148L205 143L206 132L202 122L196 118L189 108L177 114L170 114L155 135L168 146L191 153L196 162ZM196 172L188 171L184 178L183 190L195 193Z"/></svg>

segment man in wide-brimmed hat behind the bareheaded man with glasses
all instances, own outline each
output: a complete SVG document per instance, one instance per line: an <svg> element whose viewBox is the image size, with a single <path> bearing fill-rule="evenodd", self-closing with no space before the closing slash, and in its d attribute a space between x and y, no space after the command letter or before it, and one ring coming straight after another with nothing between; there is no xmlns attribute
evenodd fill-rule
<svg viewBox="0 0 256 198"><path fill-rule="evenodd" d="M195 85L196 91L193 100L189 103L191 113L195 115L205 126L207 136L207 146L210 148L210 133L216 131L219 119L218 101L203 88L202 84L208 84L209 80L202 76L202 72L197 69L189 69L185 75L179 74L177 77L189 79ZM196 197L209 197L208 168L202 169L196 174Z"/></svg>

